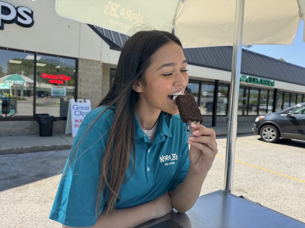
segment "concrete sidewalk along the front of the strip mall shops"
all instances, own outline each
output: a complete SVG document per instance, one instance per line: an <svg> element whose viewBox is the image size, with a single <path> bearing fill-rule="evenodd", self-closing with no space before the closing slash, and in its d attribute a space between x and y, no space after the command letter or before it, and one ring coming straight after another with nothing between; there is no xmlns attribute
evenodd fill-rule
<svg viewBox="0 0 305 228"><path fill-rule="evenodd" d="M238 123L237 135L251 134L253 123ZM227 135L227 123L217 124L213 128L216 136ZM192 135L191 132L188 135ZM37 152L46 150L66 150L71 149L74 138L71 134L53 133L49 137L40 137L39 135L25 136L1 136L0 137L0 155L2 154L20 154L27 152Z"/></svg>

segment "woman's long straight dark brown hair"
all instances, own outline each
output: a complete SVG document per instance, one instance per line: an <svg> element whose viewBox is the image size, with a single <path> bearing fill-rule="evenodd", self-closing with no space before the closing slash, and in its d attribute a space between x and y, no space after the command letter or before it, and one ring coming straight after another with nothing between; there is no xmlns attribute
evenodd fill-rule
<svg viewBox="0 0 305 228"><path fill-rule="evenodd" d="M142 81L144 86L146 85L144 72L150 66L153 54L160 47L170 42L175 42L182 48L180 40L175 35L157 30L137 32L126 41L120 54L112 86L105 98L97 106L107 107L92 122L84 134L85 136L88 133L97 119L110 106L115 105L115 116L107 140L106 150L104 151L99 184L96 190L98 192L95 208L96 216L99 216L100 195L106 188L108 188L108 201L104 213L109 215L115 208L131 155L134 158L131 175L135 170L135 104L139 96L132 89L132 86L139 80ZM166 113L166 116L171 118L172 115ZM84 139L84 136L71 154L68 165L70 165L75 151Z"/></svg>

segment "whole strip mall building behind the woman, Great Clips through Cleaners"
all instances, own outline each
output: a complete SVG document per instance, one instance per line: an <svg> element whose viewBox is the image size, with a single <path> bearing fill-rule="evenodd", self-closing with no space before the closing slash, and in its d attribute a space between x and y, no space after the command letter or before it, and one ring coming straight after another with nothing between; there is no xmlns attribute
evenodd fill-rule
<svg viewBox="0 0 305 228"><path fill-rule="evenodd" d="M38 134L36 114L55 116L64 133L68 101L90 99L93 109L109 91L127 36L59 17L55 0L0 1L5 15L23 6L0 30L0 136ZM19 19L18 19L19 17ZM21 20L23 19L23 21ZM23 24L21 22L24 22ZM232 47L184 49L189 83L204 124L227 122ZM305 68L243 50L239 122L305 102Z"/></svg>

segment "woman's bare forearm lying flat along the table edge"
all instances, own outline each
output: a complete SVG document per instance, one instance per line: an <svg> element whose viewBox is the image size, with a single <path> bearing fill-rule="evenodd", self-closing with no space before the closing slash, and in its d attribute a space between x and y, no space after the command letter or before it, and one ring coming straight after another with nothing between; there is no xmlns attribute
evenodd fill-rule
<svg viewBox="0 0 305 228"><path fill-rule="evenodd" d="M154 205L152 202L147 202L134 207L116 209L109 216L102 213L93 228L132 228L154 218L156 218Z"/></svg>

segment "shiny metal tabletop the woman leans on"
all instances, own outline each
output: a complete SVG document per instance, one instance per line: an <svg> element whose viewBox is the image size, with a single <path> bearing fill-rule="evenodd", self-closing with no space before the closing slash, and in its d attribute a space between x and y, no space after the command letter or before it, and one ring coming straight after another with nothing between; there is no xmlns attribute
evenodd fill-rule
<svg viewBox="0 0 305 228"><path fill-rule="evenodd" d="M305 223L219 190L200 196L192 209L185 214L179 214L174 210L137 228L149 226L152 228L305 228Z"/></svg>

